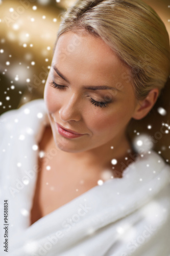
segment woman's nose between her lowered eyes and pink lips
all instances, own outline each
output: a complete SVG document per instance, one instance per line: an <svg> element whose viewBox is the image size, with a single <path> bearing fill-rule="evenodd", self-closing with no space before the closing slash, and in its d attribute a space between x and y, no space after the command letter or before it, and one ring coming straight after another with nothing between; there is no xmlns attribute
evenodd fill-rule
<svg viewBox="0 0 170 256"><path fill-rule="evenodd" d="M60 118L63 122L79 121L81 119L81 100L78 94L71 94L62 101L59 110Z"/></svg>

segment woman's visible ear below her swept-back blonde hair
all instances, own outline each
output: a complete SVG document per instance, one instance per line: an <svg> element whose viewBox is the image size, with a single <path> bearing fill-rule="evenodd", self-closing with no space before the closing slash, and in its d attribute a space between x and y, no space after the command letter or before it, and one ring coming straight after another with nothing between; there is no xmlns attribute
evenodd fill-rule
<svg viewBox="0 0 170 256"><path fill-rule="evenodd" d="M132 118L140 120L145 117L153 108L159 96L159 89L155 88L149 92L147 97L143 100L138 100Z"/></svg>

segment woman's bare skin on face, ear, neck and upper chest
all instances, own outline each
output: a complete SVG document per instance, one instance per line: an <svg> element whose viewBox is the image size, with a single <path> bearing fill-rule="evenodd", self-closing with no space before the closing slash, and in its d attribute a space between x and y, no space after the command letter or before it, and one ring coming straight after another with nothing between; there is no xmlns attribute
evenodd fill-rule
<svg viewBox="0 0 170 256"><path fill-rule="evenodd" d="M127 79L129 68L101 38L89 34L61 35L52 67L44 89L50 127L45 129L39 148L47 153L55 147L58 154L48 162L50 170L39 161L31 224L98 185L104 170L109 169L114 178L122 178L128 166L125 158L129 159L129 151L135 155L126 127L132 118L147 115L159 94L153 89L144 100L137 100L132 80ZM56 68L62 75L56 73ZM53 81L62 89L54 88ZM115 90L90 90L84 86L109 86ZM91 98L106 102L107 107L92 104ZM58 133L56 122L84 135L67 139ZM117 160L114 169L113 158Z"/></svg>

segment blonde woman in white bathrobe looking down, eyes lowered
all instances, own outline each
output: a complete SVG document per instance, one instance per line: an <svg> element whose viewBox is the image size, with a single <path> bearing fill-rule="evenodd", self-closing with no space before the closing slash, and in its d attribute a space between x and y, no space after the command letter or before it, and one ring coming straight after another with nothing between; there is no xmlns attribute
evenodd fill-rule
<svg viewBox="0 0 170 256"><path fill-rule="evenodd" d="M1 117L9 255L169 255L170 167L126 134L153 108L169 56L162 21L140 0L67 10L44 100Z"/></svg>

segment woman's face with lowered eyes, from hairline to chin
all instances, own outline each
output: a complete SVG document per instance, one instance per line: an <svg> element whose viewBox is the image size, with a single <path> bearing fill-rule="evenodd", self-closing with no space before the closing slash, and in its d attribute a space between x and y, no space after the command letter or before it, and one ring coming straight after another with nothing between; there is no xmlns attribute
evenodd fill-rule
<svg viewBox="0 0 170 256"><path fill-rule="evenodd" d="M129 72L101 38L74 32L59 37L44 101L61 150L78 153L125 138L137 104ZM84 135L65 138L56 123Z"/></svg>

